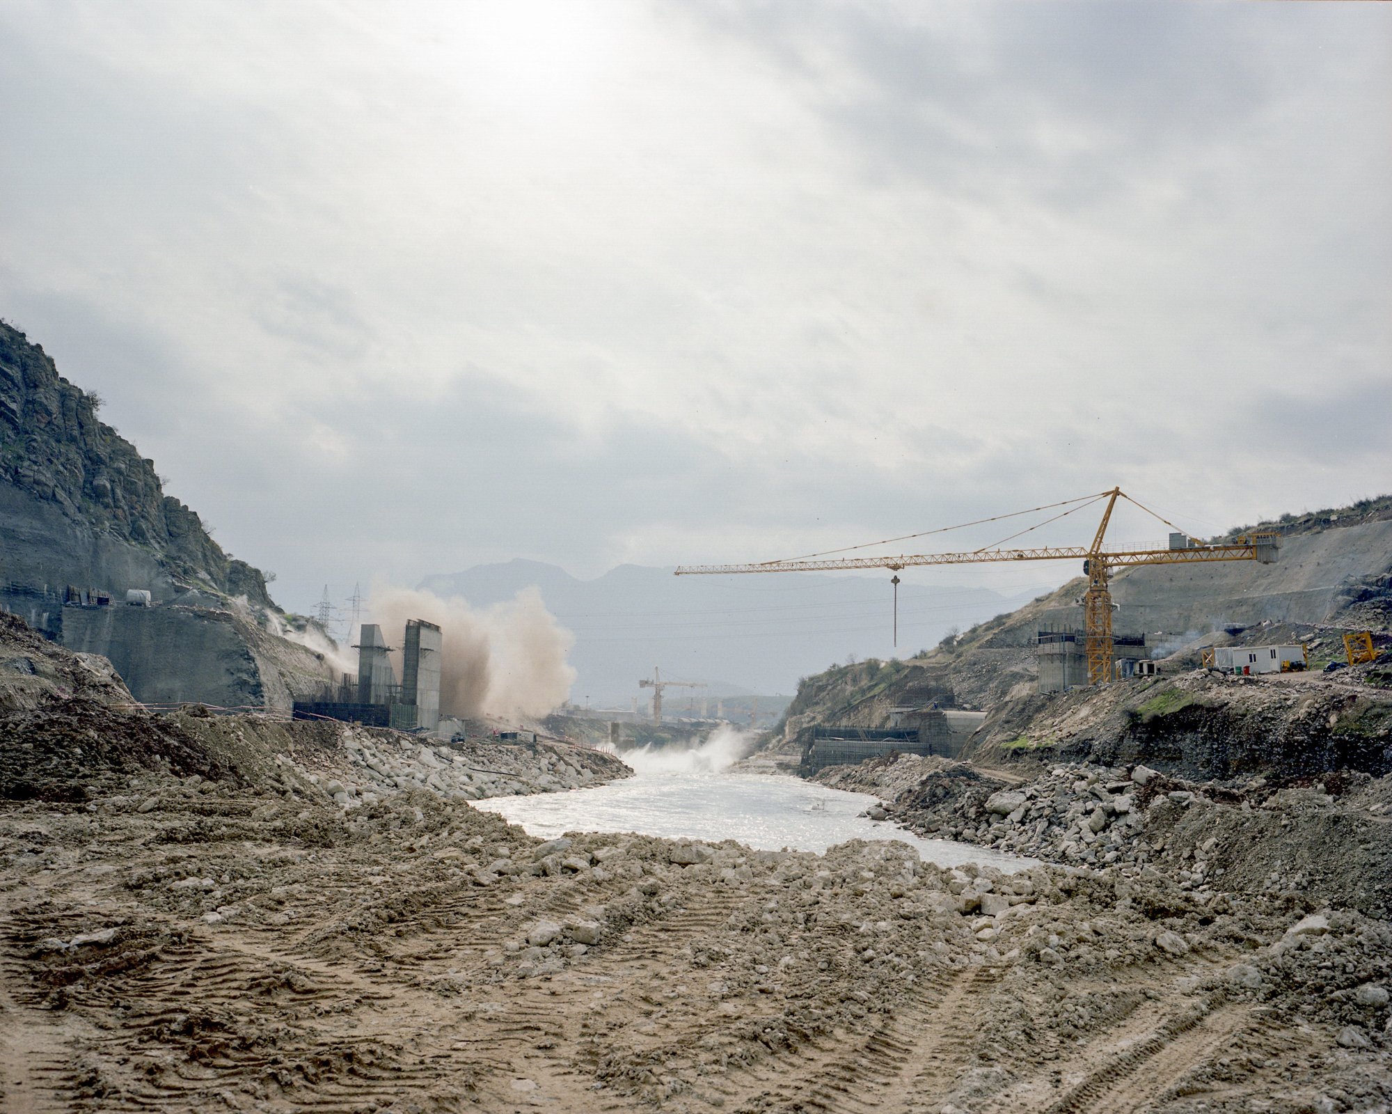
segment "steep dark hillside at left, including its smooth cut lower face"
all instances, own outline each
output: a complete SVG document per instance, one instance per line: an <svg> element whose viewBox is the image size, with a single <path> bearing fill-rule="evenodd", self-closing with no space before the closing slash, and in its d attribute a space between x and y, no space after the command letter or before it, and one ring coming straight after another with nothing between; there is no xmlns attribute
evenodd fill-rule
<svg viewBox="0 0 1392 1114"><path fill-rule="evenodd" d="M0 322L0 611L110 659L135 699L288 709L331 681L324 653L166 496L155 461L97 416L24 333ZM77 599L70 599L77 589ZM131 589L153 607L128 607Z"/></svg>

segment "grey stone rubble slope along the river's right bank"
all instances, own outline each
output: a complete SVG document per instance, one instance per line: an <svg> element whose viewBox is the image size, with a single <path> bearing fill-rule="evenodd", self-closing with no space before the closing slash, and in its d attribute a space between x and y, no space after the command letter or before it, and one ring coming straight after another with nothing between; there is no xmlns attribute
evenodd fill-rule
<svg viewBox="0 0 1392 1114"><path fill-rule="evenodd" d="M1144 764L1061 763L1029 781L891 753L817 781L873 792L927 837L1122 877L1162 869L1212 895L1307 893L1392 916L1392 776L1186 781Z"/></svg>

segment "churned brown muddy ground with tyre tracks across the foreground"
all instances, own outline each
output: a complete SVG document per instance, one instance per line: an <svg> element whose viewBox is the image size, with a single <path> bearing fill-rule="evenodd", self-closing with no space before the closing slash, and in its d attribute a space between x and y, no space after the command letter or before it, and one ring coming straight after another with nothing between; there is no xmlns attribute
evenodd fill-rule
<svg viewBox="0 0 1392 1114"><path fill-rule="evenodd" d="M1144 824L1107 862L1133 823L1098 787L1182 810L1155 829L1176 848L1210 808L1169 798L1190 790L1058 774L1033 826L1037 802L970 829L1019 841L1057 816L1058 862L1015 874L891 842L541 842L469 803L477 771L532 791L622 767L152 717L95 666L21 649L0 677L4 1111L1392 1103L1392 927L1346 881L1231 886L1214 845L1197 874L1143 856ZM1382 815L1359 805L1374 783L1349 787L1310 806Z"/></svg>

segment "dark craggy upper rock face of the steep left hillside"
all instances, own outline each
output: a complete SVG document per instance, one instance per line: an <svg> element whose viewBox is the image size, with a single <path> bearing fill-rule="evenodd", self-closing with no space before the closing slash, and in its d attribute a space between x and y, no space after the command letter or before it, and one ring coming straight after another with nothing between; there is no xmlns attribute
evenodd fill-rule
<svg viewBox="0 0 1392 1114"><path fill-rule="evenodd" d="M264 576L223 553L198 514L163 493L155 461L102 422L99 407L40 345L0 322L0 489L10 489L6 521L18 535L0 556L0 579L139 586L156 599L212 590L273 607Z"/></svg>

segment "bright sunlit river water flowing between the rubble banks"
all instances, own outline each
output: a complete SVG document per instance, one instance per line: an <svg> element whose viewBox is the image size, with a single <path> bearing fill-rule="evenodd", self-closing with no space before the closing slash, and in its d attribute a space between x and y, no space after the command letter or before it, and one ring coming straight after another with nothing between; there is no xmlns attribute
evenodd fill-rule
<svg viewBox="0 0 1392 1114"><path fill-rule="evenodd" d="M729 732L734 735L734 732ZM529 834L635 831L670 840L738 840L763 851L825 851L846 840L899 840L938 866L976 862L1019 870L1034 859L1002 855L951 840L924 840L888 822L860 816L874 797L842 792L799 777L724 773L738 753L717 732L682 752L626 752L635 776L590 790L533 797L493 797L475 808L496 812Z"/></svg>

